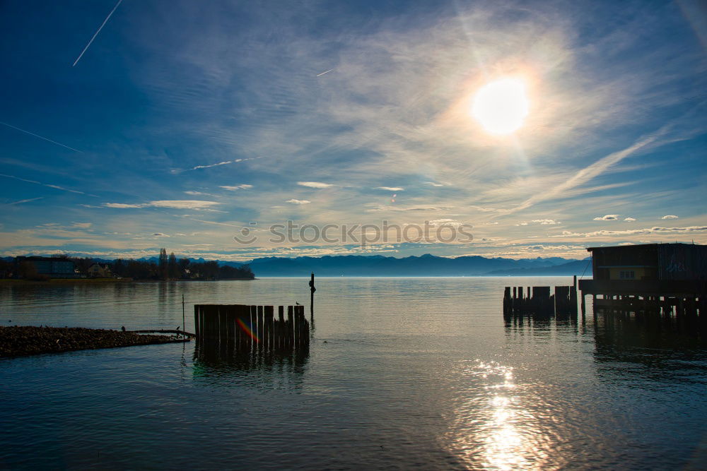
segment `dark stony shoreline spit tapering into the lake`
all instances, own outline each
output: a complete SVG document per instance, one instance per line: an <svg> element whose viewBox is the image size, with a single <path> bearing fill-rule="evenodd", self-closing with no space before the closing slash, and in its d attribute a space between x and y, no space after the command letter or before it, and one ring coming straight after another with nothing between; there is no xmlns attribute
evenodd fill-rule
<svg viewBox="0 0 707 471"><path fill-rule="evenodd" d="M168 335L139 335L81 327L0 326L0 358L98 348L188 342Z"/></svg>

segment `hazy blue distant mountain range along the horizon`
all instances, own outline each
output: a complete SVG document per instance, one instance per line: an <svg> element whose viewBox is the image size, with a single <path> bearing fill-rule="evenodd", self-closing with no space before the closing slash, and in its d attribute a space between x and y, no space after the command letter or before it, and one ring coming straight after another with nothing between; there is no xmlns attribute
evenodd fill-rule
<svg viewBox="0 0 707 471"><path fill-rule="evenodd" d="M11 258L9 258L11 259ZM95 258L99 263L111 260ZM157 261L157 257L141 258ZM204 262L203 258L190 261ZM267 257L250 262L218 261L220 265L250 265L257 277L307 276L551 276L582 275L591 270L588 259L486 258L483 256L439 257L430 254L403 258L380 255L339 255L322 257Z"/></svg>

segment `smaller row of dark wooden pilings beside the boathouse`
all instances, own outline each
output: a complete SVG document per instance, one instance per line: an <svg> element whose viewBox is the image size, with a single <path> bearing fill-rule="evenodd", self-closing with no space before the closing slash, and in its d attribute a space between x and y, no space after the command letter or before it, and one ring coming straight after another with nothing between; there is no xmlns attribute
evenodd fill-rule
<svg viewBox="0 0 707 471"><path fill-rule="evenodd" d="M506 287L503 292L503 316L577 315L576 287L556 286L554 294L550 294L549 286L524 288Z"/></svg>

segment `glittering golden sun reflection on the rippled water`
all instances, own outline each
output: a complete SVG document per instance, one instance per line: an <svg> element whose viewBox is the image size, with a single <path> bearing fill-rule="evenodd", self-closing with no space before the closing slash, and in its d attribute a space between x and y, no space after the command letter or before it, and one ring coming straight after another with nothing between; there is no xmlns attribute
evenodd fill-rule
<svg viewBox="0 0 707 471"><path fill-rule="evenodd" d="M513 368L498 362L467 363L460 381L466 388L450 415L446 447L470 469L542 467L549 440L515 393Z"/></svg>

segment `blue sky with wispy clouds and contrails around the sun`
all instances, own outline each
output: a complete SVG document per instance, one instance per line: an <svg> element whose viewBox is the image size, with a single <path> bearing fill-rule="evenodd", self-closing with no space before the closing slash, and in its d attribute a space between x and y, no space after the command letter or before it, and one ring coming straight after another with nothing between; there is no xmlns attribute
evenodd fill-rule
<svg viewBox="0 0 707 471"><path fill-rule="evenodd" d="M8 0L0 37L0 256L707 243L703 2Z"/></svg>

